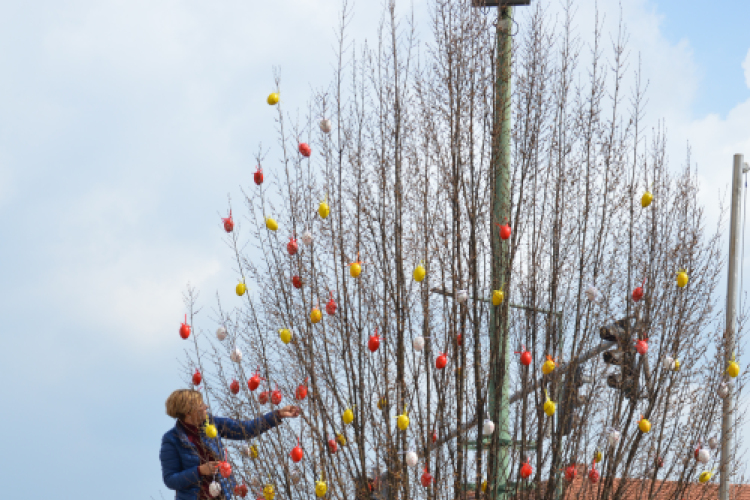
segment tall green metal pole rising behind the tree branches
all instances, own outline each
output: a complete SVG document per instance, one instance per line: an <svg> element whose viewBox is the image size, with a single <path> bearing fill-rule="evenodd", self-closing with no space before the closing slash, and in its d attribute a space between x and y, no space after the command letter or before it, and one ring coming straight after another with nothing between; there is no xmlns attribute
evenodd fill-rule
<svg viewBox="0 0 750 500"><path fill-rule="evenodd" d="M510 79L511 79L511 26L513 11L511 7L501 7L497 19L497 66L495 82L494 137L492 138L492 217L490 234L492 235L492 283L500 288L510 278L508 269L509 242L500 239L495 223L504 223L510 212ZM497 422L490 447L491 500L507 498L509 474L510 442L508 418L508 393L510 392L510 346L508 344L507 303L490 309L490 352L496 358L491 360L489 411L491 418ZM498 385L500 386L498 388ZM494 459L494 460L493 460ZM494 462L494 463L493 463Z"/></svg>

